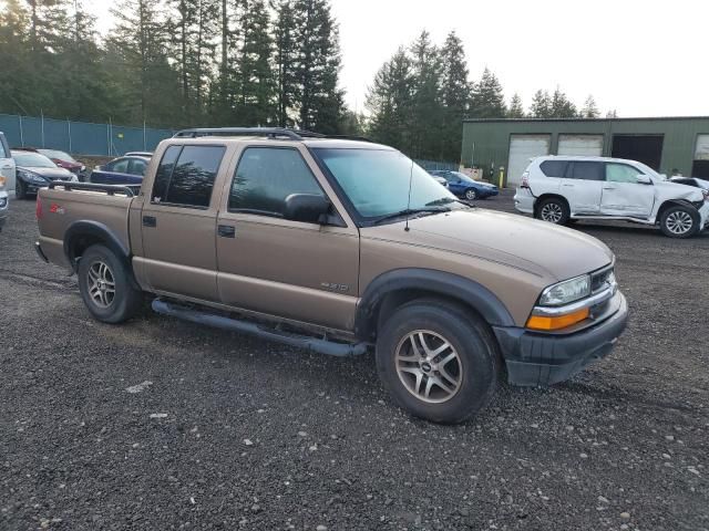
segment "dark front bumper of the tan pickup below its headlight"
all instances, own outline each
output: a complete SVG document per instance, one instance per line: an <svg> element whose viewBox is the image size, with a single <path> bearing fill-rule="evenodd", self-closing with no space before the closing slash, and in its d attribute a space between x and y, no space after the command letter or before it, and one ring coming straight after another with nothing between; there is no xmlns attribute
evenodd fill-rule
<svg viewBox="0 0 709 531"><path fill-rule="evenodd" d="M545 334L520 327L494 327L513 385L546 386L568 379L605 357L628 323L628 304L619 291L615 313L572 334Z"/></svg>

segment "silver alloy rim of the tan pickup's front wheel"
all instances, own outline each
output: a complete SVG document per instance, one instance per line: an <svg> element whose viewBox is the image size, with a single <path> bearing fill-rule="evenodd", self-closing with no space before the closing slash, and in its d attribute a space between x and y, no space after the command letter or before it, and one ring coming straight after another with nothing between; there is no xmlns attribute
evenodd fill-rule
<svg viewBox="0 0 709 531"><path fill-rule="evenodd" d="M430 330L407 334L397 346L397 374L418 399L441 404L461 387L461 357L442 335Z"/></svg>

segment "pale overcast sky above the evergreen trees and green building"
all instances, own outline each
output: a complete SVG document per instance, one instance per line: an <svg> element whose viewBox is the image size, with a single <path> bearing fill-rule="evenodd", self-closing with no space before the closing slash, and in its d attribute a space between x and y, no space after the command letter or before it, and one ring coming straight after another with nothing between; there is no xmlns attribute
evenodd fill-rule
<svg viewBox="0 0 709 531"><path fill-rule="evenodd" d="M105 30L114 2L86 2ZM559 86L577 105L593 94L605 114L709 115L706 0L331 0L340 27L340 82L364 111L381 64L422 30L442 44L455 30L472 79L489 67L507 101L527 107Z"/></svg>

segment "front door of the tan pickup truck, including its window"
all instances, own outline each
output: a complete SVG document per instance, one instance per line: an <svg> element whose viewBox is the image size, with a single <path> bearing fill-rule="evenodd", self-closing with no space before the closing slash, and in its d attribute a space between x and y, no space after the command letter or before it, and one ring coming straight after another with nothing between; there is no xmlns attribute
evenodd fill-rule
<svg viewBox="0 0 709 531"><path fill-rule="evenodd" d="M349 331L358 301L359 230L339 215L328 183L298 146L247 147L218 218L218 289L224 304ZM322 194L335 219L284 218L291 194ZM340 225L340 226L336 226Z"/></svg>

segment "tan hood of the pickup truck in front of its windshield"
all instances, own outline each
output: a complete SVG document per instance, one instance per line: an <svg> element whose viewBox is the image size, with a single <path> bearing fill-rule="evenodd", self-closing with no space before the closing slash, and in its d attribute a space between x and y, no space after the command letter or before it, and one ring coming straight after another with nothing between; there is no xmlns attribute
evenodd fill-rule
<svg viewBox="0 0 709 531"><path fill-rule="evenodd" d="M503 263L556 281L613 262L610 249L577 230L484 209L453 210L362 229L378 238Z"/></svg>

